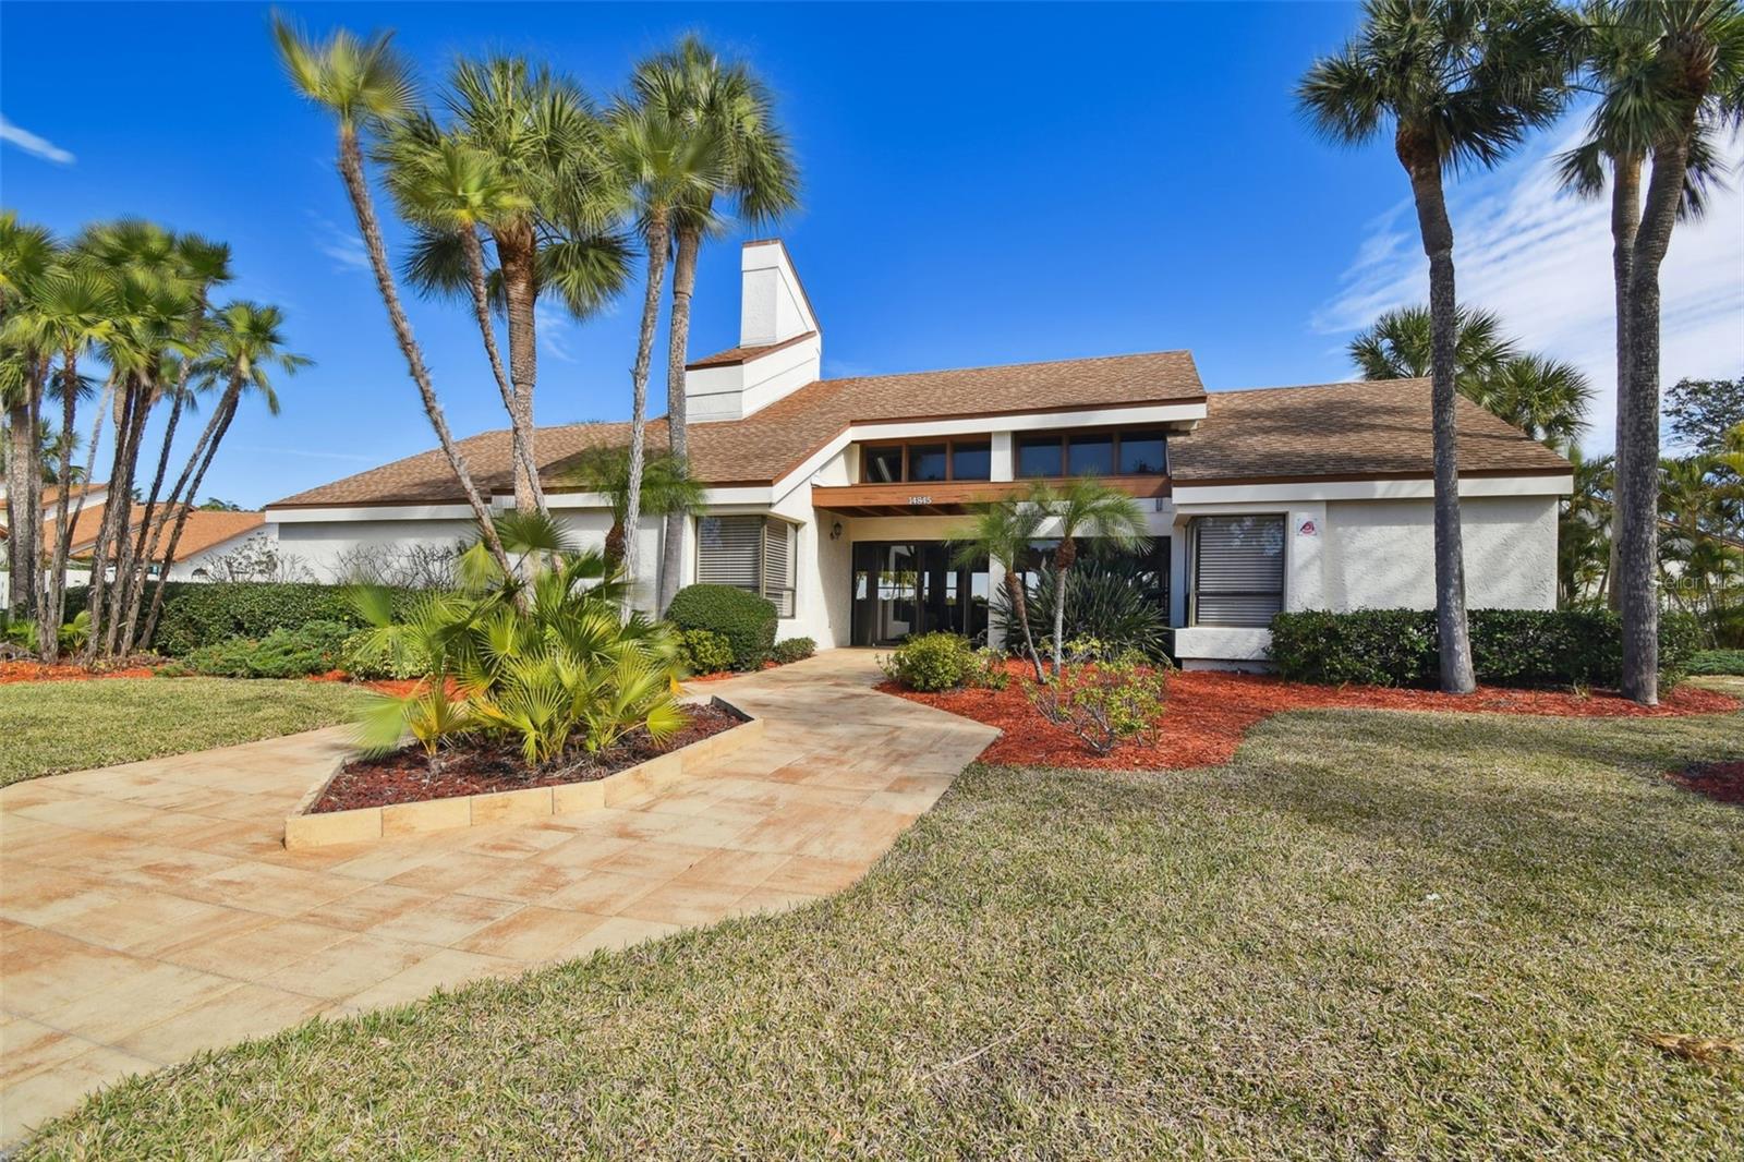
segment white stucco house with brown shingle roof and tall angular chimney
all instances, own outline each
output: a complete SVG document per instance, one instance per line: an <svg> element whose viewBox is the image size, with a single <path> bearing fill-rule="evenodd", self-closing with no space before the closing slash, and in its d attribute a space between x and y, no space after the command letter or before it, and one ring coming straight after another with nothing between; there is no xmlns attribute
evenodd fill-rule
<svg viewBox="0 0 1744 1162"><path fill-rule="evenodd" d="M1263 663L1280 609L1434 604L1427 380L1207 393L1186 351L823 379L823 326L780 241L745 244L741 295L738 345L685 375L706 511L682 583L760 591L783 637L987 630L1003 578L952 564L949 537L975 502L1078 473L1144 506L1153 591L1184 665ZM1475 405L1458 422L1468 600L1549 609L1570 464ZM647 438L664 445L664 422ZM539 433L548 504L595 544L605 501L565 471L624 443L628 424ZM460 447L508 506L508 433ZM267 520L317 571L368 548L452 544L471 525L439 450L284 497ZM637 536L652 571L661 522Z"/></svg>

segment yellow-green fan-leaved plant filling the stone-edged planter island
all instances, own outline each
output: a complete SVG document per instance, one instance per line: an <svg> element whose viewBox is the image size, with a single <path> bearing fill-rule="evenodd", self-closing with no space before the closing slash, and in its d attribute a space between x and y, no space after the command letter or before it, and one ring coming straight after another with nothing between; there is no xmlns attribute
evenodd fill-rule
<svg viewBox="0 0 1744 1162"><path fill-rule="evenodd" d="M364 745L389 750L410 731L434 755L467 736L504 740L534 768L637 729L656 742L677 733L677 644L642 614L621 619L621 574L544 513L506 513L495 530L513 572L474 544L459 588L419 595L398 616L387 590L354 591L371 647L429 658L412 693L370 707Z"/></svg>

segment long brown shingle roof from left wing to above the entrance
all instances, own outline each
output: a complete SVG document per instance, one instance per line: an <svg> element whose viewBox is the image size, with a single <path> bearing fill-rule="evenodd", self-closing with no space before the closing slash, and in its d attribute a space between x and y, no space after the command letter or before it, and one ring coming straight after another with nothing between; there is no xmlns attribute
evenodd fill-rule
<svg viewBox="0 0 1744 1162"><path fill-rule="evenodd" d="M691 471L708 485L767 485L799 468L851 424L1064 412L1205 400L1186 351L1015 363L952 372L820 379L739 420L691 424ZM541 476L565 485L574 459L624 445L630 424L567 424L539 429ZM666 447L666 422L649 422L651 448ZM460 441L480 489L506 492L509 433ZM272 508L347 504L441 504L462 494L439 448L276 501Z"/></svg>

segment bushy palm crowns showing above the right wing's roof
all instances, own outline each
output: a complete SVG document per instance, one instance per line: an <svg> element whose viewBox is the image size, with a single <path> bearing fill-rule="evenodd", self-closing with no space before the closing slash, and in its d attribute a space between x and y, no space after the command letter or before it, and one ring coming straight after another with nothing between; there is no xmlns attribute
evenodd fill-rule
<svg viewBox="0 0 1744 1162"><path fill-rule="evenodd" d="M1348 351L1364 379L1421 379L1432 347L1428 307L1400 307L1383 312ZM1587 377L1571 363L1523 354L1491 311L1456 311L1454 380L1467 400L1552 448L1570 448L1585 431Z"/></svg>

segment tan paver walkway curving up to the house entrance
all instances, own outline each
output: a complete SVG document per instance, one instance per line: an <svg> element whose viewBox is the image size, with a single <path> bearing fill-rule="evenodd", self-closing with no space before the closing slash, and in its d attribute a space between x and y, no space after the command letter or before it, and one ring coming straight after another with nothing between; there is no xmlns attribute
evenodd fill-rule
<svg viewBox="0 0 1744 1162"><path fill-rule="evenodd" d="M0 1143L127 1073L856 881L992 742L828 651L762 743L598 813L286 851L345 728L0 790Z"/></svg>

